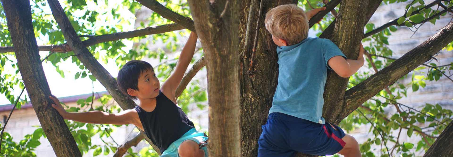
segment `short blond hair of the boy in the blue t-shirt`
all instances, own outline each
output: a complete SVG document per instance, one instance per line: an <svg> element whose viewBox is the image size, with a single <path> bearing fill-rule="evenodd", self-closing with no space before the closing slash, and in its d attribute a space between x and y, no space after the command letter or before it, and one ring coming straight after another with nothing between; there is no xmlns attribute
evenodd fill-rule
<svg viewBox="0 0 453 157"><path fill-rule="evenodd" d="M280 5L270 9L265 18L266 29L274 37L284 39L288 46L308 37L308 19L296 5Z"/></svg>

